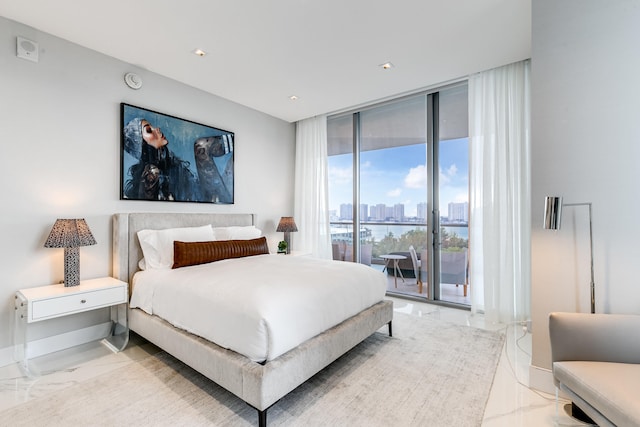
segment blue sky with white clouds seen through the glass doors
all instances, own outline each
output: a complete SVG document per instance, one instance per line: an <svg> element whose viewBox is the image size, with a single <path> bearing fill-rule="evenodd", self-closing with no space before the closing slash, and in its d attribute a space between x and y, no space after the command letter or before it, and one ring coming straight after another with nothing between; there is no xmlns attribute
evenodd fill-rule
<svg viewBox="0 0 640 427"><path fill-rule="evenodd" d="M467 138L440 142L440 210L449 202L468 201L469 162ZM352 156L329 157L329 209L352 201ZM360 154L360 201L369 206L404 203L405 216L415 216L417 204L426 201L426 145L408 145Z"/></svg>

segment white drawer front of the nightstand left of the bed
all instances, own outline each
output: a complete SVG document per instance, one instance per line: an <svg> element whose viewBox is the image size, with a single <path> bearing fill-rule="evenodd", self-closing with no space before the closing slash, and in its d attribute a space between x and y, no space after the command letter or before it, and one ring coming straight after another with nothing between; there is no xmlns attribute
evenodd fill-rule
<svg viewBox="0 0 640 427"><path fill-rule="evenodd" d="M33 301L29 321L50 319L127 302L126 286L61 295Z"/></svg>

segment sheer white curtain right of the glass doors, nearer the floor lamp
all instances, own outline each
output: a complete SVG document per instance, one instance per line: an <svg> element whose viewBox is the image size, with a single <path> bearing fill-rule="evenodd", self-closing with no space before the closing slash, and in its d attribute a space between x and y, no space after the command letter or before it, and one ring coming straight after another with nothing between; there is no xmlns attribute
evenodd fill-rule
<svg viewBox="0 0 640 427"><path fill-rule="evenodd" d="M469 78L472 311L490 322L531 312L530 62Z"/></svg>

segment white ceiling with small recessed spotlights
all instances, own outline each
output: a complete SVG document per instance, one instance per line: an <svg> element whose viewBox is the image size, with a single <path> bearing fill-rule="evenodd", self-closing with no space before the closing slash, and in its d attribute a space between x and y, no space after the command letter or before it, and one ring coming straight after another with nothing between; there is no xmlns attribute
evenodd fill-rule
<svg viewBox="0 0 640 427"><path fill-rule="evenodd" d="M288 122L531 56L531 0L0 0L0 15Z"/></svg>

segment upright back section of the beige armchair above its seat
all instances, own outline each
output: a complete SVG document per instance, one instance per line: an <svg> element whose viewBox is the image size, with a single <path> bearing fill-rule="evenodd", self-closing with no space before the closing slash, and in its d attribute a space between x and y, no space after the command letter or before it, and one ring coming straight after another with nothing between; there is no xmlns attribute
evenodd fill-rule
<svg viewBox="0 0 640 427"><path fill-rule="evenodd" d="M640 363L640 315L551 313L551 363Z"/></svg>

